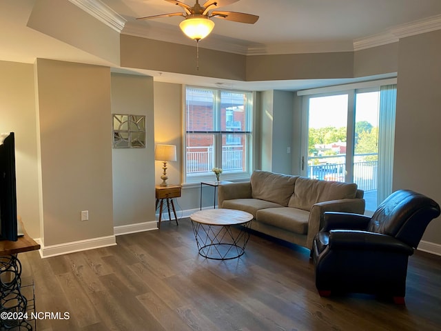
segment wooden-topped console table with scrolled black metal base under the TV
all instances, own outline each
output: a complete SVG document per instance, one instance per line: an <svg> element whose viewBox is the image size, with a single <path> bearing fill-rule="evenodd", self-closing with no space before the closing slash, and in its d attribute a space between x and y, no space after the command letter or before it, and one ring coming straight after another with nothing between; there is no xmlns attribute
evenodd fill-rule
<svg viewBox="0 0 441 331"><path fill-rule="evenodd" d="M13 312L14 316L24 316L28 309L28 299L21 293L21 263L17 254L40 249L40 245L25 232L23 223L21 228L24 235L17 241L0 241L0 313ZM0 330L11 328L32 330L32 325L25 319L0 319Z"/></svg>

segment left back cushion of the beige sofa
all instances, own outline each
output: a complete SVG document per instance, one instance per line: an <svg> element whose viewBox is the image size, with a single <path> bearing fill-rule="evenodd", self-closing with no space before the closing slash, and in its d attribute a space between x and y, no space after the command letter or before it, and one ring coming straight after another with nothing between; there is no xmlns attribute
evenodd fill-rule
<svg viewBox="0 0 441 331"><path fill-rule="evenodd" d="M298 176L255 170L251 175L252 197L288 205Z"/></svg>

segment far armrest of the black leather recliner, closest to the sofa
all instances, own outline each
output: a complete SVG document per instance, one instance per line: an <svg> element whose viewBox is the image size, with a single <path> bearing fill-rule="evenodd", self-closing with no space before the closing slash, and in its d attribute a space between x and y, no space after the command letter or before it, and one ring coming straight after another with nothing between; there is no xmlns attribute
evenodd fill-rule
<svg viewBox="0 0 441 331"><path fill-rule="evenodd" d="M323 228L329 230L366 230L371 217L349 212L325 212Z"/></svg>

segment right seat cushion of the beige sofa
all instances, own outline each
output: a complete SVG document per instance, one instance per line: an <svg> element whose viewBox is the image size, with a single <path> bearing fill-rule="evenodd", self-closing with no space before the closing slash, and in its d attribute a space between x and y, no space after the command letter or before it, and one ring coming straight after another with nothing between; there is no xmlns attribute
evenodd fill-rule
<svg viewBox="0 0 441 331"><path fill-rule="evenodd" d="M283 207L258 210L256 220L298 234L308 232L309 212L306 210Z"/></svg>

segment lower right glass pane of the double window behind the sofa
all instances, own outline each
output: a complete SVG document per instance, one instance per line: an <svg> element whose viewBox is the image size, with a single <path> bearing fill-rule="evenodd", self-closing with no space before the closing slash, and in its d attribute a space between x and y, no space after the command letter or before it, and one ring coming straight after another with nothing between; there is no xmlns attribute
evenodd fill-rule
<svg viewBox="0 0 441 331"><path fill-rule="evenodd" d="M227 172L247 171L248 134L222 135L222 169Z"/></svg>

